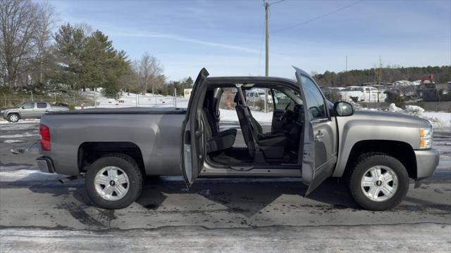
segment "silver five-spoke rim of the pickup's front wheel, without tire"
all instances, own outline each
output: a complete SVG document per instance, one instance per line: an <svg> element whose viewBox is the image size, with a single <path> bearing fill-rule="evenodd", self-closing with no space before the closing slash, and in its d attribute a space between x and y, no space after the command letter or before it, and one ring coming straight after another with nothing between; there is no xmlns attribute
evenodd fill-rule
<svg viewBox="0 0 451 253"><path fill-rule="evenodd" d="M372 201L390 199L397 190L397 176L390 167L378 165L367 169L360 181L362 192Z"/></svg>

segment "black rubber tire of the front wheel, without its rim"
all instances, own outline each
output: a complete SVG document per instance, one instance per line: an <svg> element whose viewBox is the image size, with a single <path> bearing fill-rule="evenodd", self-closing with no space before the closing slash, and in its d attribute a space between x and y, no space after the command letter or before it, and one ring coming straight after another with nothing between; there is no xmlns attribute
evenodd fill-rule
<svg viewBox="0 0 451 253"><path fill-rule="evenodd" d="M362 190L361 181L364 173L373 166L385 166L396 174L397 176L397 189L393 196L388 200L374 201L364 195ZM361 155L354 165L354 168L350 174L349 190L354 197L354 200L364 209L373 211L385 211L396 207L407 195L409 190L409 174L402 163L383 153L367 153Z"/></svg>

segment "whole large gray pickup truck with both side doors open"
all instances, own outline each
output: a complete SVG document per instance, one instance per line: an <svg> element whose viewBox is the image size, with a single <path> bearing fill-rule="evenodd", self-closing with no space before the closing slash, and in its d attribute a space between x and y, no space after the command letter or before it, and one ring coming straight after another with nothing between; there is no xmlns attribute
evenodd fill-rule
<svg viewBox="0 0 451 253"><path fill-rule="evenodd" d="M199 73L187 109L47 113L39 129L39 168L85 176L89 197L106 209L134 202L146 176L181 174L188 188L199 176L298 177L308 186L305 195L329 177L342 177L359 205L385 210L402 201L409 179L419 186L438 165L430 122L332 104L296 67L297 80L208 75ZM245 100L254 88L271 91L268 131ZM240 126L226 127L218 108L231 93L234 100L226 103L235 106L229 112Z"/></svg>

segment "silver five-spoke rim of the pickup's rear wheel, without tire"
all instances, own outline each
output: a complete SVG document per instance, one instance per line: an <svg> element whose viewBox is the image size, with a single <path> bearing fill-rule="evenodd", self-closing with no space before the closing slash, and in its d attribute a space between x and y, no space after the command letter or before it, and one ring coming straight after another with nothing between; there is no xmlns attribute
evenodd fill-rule
<svg viewBox="0 0 451 253"><path fill-rule="evenodd" d="M97 172L94 186L104 200L116 201L121 200L128 193L130 180L121 168L109 166Z"/></svg>

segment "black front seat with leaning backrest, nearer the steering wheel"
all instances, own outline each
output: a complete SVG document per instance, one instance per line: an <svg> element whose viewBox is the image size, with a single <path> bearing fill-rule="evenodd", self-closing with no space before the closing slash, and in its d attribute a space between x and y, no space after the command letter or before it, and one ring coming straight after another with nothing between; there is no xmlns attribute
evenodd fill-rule
<svg viewBox="0 0 451 253"><path fill-rule="evenodd" d="M249 149L249 155L254 157L256 153L261 151L266 158L283 158L285 145L288 143L286 134L280 132L263 134L261 125L252 117L252 112L245 104L246 102L240 98L240 93L237 93L234 101L237 103L235 109L240 121L242 136L245 138L245 143ZM246 111L249 116L246 115Z"/></svg>

